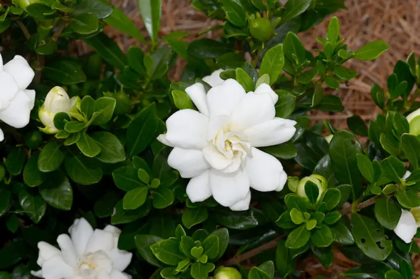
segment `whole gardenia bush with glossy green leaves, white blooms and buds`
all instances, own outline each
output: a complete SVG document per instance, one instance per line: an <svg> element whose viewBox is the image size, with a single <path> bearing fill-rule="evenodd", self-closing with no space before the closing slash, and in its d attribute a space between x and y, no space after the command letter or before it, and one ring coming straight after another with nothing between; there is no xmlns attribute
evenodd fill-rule
<svg viewBox="0 0 420 279"><path fill-rule="evenodd" d="M412 279L415 54L337 130L309 112L342 112L345 62L388 49L348 49L334 16L304 48L344 0L192 5L218 20L193 40L159 34L161 0L138 0L147 38L106 0L1 2L0 279L309 278L335 251L359 265L334 278Z"/></svg>

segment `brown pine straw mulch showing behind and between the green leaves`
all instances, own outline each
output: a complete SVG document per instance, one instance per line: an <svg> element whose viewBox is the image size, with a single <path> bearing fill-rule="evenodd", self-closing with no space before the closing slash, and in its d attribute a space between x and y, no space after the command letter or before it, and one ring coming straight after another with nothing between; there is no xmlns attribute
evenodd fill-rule
<svg viewBox="0 0 420 279"><path fill-rule="evenodd" d="M126 14L137 24L146 37L144 24L140 18L135 0L111 0L122 8ZM340 22L340 35L345 38L349 49L357 50L369 41L381 39L389 44L389 51L385 52L375 61L347 62L346 66L357 70L359 76L350 81L348 85L341 84L339 90L331 90L328 94L339 96L343 100L345 111L343 113L314 112L312 119L322 121L329 119L336 128L347 127L345 119L353 114L358 114L362 119L374 119L379 112L370 96L373 83L378 83L386 88L386 79L392 73L398 60L406 60L414 51L420 54L420 1L417 0L347 0L348 10L342 10L335 15ZM184 31L190 34L186 40L197 37L197 33L218 24L215 20L208 19L190 5L189 0L163 0L163 18L160 37L174 31ZM300 34L307 49L320 47L315 40L316 36L325 37L329 18L310 31ZM107 27L105 32L113 37L123 50L139 43ZM209 32L206 37L217 38L220 31ZM82 43L77 44L80 54L88 51ZM179 59L170 75L173 80L179 79L185 63ZM414 255L416 275L420 275L420 256ZM339 278L338 274L356 263L347 259L336 251L334 264L330 268L323 268L314 258L308 258L301 266L311 276L324 275L328 278Z"/></svg>

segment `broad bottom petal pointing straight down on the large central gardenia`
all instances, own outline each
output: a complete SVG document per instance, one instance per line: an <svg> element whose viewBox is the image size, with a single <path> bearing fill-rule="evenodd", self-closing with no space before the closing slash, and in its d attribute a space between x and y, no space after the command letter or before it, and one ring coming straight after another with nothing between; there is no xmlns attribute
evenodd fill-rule
<svg viewBox="0 0 420 279"><path fill-rule="evenodd" d="M210 170L210 188L216 202L230 207L247 197L250 179L241 170L231 174Z"/></svg>

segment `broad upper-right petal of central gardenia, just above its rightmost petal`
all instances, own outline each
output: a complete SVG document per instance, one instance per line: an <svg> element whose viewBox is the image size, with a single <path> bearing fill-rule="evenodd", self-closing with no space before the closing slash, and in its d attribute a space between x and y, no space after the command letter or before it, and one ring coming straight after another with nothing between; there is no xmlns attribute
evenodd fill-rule
<svg viewBox="0 0 420 279"><path fill-rule="evenodd" d="M233 109L230 127L236 132L243 131L272 120L275 115L276 109L270 95L249 92Z"/></svg>

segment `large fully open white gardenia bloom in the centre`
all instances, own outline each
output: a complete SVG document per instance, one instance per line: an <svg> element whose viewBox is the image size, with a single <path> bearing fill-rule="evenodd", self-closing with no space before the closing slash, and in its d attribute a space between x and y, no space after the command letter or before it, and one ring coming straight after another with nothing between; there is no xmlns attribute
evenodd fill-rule
<svg viewBox="0 0 420 279"><path fill-rule="evenodd" d="M213 196L224 207L246 210L250 187L282 190L287 180L282 164L257 147L288 141L296 122L275 117L278 97L271 87L261 84L246 93L238 81L227 79L207 94L201 83L185 92L199 111L172 114L166 121L167 133L158 139L174 147L169 166L191 178L186 190L191 202Z"/></svg>

